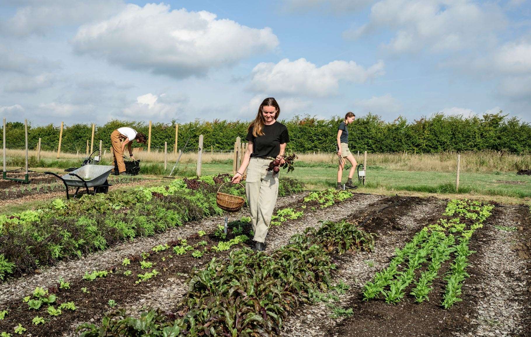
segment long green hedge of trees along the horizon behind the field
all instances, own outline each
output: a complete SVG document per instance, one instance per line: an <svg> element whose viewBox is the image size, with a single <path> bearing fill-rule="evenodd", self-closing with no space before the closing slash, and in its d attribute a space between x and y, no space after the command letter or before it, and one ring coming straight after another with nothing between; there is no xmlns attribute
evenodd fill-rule
<svg viewBox="0 0 531 337"><path fill-rule="evenodd" d="M337 127L341 117L328 120L311 116L295 116L286 124L290 142L288 149L295 152L335 151ZM204 148L232 149L236 137L245 139L249 121L215 120L179 124L178 149L182 149L186 140L190 142L186 150L198 147L199 135L204 135ZM148 135L147 122L113 120L98 125L95 130L95 148L99 140L104 147L110 147L110 133L113 130L130 126ZM485 114L482 117L446 116L433 114L413 122L398 117L393 122L385 122L378 115L368 114L357 118L349 127L350 150L371 153L416 151L418 153L436 153L440 151L467 150L506 150L511 153L531 151L531 125L517 117L508 118L502 111ZM84 153L87 139L91 137L91 124L66 125L63 130L61 149L65 152L79 150ZM54 150L59 140L59 127L30 125L28 131L29 146L36 148L39 137L43 150ZM0 139L1 141L1 139ZM164 150L168 142L168 151L173 151L175 142L175 121L172 123L153 123L151 128L151 150ZM6 146L10 149L24 148L24 124L10 122L6 125ZM1 143L0 143L1 144ZM134 144L135 147L147 147Z"/></svg>

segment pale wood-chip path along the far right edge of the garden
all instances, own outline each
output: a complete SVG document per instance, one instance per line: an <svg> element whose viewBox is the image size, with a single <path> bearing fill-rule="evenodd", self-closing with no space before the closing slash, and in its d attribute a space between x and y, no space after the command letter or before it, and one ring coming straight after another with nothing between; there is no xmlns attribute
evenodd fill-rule
<svg viewBox="0 0 531 337"><path fill-rule="evenodd" d="M526 261L518 258L511 246L516 242L516 232L499 230L494 225L519 226L519 215L512 207L499 207L501 215L496 222L484 226L483 230L492 238L479 260L481 265L473 266L486 277L479 284L463 286L463 292L473 293L478 298L477 314L470 317L472 332L455 333L455 336L512 336L524 328L523 301L529 284L522 274ZM527 318L529 319L529 317Z"/></svg>

